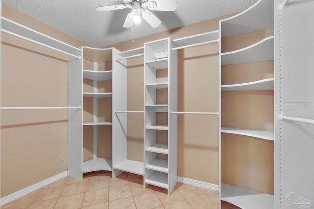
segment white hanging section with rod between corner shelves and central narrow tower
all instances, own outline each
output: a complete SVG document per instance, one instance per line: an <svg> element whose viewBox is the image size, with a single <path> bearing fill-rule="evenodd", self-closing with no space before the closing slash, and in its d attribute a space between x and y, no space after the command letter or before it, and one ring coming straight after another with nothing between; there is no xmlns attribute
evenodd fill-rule
<svg viewBox="0 0 314 209"><path fill-rule="evenodd" d="M112 115L112 177L123 171L144 175L144 163L128 159L128 114L142 114L144 111L128 111L128 59L144 55L144 47L117 53L117 66L113 79Z"/></svg>

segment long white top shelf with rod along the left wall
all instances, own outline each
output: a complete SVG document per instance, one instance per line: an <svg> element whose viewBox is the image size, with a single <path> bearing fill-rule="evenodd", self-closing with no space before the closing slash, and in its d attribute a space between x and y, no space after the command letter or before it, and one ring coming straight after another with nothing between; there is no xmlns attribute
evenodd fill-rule
<svg viewBox="0 0 314 209"><path fill-rule="evenodd" d="M66 53L80 58L81 49L56 40L50 36L28 28L22 24L15 23L9 19L1 17L1 31L11 35L26 39L33 43L52 48L54 50Z"/></svg>

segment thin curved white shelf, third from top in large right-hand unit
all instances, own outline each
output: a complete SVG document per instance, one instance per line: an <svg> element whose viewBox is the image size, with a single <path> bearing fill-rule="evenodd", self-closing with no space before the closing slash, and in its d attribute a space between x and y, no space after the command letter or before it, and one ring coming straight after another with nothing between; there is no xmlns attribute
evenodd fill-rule
<svg viewBox="0 0 314 209"><path fill-rule="evenodd" d="M274 78L267 78L249 83L222 85L221 91L259 91L259 90L274 90Z"/></svg>

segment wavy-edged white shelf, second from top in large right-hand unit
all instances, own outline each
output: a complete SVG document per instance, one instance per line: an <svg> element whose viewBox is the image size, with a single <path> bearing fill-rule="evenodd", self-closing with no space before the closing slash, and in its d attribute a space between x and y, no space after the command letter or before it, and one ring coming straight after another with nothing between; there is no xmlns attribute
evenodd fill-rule
<svg viewBox="0 0 314 209"><path fill-rule="evenodd" d="M251 46L221 53L221 65L274 60L274 36L264 38Z"/></svg>

